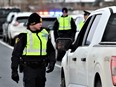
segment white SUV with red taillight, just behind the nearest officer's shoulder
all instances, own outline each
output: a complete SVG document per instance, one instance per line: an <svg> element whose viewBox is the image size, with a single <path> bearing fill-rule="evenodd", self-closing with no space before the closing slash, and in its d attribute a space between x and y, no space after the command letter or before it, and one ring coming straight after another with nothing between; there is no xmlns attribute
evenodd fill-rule
<svg viewBox="0 0 116 87"><path fill-rule="evenodd" d="M23 26L28 21L28 17L32 12L19 12L14 15L12 22L8 25L8 40L9 44L13 45L15 37L21 32L25 32L26 28Z"/></svg>

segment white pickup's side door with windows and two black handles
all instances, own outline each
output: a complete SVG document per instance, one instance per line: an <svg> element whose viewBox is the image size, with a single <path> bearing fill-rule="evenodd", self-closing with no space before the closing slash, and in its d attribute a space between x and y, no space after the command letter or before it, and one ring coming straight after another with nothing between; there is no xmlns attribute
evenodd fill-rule
<svg viewBox="0 0 116 87"><path fill-rule="evenodd" d="M87 19L82 30L80 31L77 41L74 44L73 55L69 59L70 61L70 78L72 84L78 86L87 87L87 55L89 52L89 45L91 44L92 37L99 23L101 15L94 15ZM73 63L73 64L72 64Z"/></svg>

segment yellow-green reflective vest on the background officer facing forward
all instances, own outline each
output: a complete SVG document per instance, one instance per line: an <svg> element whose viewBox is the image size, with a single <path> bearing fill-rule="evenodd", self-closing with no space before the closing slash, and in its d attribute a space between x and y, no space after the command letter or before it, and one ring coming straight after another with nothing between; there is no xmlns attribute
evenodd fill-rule
<svg viewBox="0 0 116 87"><path fill-rule="evenodd" d="M71 29L71 17L59 17L57 18L59 22L59 30L70 30Z"/></svg>

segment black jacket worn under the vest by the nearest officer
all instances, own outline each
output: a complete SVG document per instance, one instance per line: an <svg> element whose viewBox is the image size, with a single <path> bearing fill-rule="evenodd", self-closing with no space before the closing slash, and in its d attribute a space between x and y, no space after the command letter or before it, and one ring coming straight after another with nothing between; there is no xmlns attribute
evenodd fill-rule
<svg viewBox="0 0 116 87"><path fill-rule="evenodd" d="M41 28L42 30L43 28ZM45 29L45 28L44 28ZM32 32L32 33L39 33L41 32L40 31L35 31L35 32ZM47 55L46 56L23 56L23 50L26 46L26 41L27 41L27 35L26 33L21 33L19 34L17 37L16 37L17 41L14 45L14 49L13 49L13 52L12 52L12 57L11 57L11 68L15 68L17 69L18 68L18 65L19 65L19 61L20 61L20 58L24 58L24 59L28 59L28 60L32 60L32 61L39 61L41 59L45 59L47 58L49 60L49 62L55 62L56 58L55 58L55 49L51 43L51 40L50 38L48 39L48 42L47 42Z"/></svg>

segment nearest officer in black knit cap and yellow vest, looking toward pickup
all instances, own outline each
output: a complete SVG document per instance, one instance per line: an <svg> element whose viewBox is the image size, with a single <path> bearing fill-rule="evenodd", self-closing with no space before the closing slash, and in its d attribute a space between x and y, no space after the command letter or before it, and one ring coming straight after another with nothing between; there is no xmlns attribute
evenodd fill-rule
<svg viewBox="0 0 116 87"><path fill-rule="evenodd" d="M30 15L27 28L15 41L11 57L11 78L18 83L18 67L20 60L23 60L21 71L24 74L24 87L45 87L45 72L52 72L56 62L55 50L38 13Z"/></svg>

